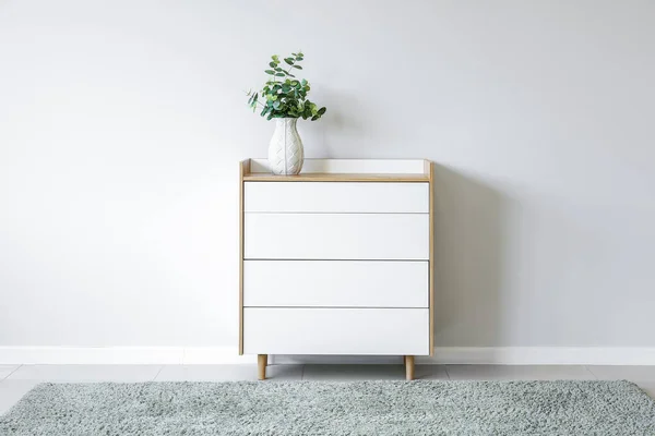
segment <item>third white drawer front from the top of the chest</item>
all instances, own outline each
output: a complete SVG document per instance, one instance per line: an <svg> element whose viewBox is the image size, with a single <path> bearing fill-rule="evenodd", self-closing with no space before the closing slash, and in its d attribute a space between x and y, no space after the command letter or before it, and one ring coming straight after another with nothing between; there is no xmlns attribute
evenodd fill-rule
<svg viewBox="0 0 655 436"><path fill-rule="evenodd" d="M243 305L428 307L428 262L246 261Z"/></svg>

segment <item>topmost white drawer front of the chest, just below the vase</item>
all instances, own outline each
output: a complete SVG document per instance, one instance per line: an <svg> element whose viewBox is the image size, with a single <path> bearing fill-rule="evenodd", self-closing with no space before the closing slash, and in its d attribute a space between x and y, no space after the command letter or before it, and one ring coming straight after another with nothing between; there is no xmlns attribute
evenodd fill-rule
<svg viewBox="0 0 655 436"><path fill-rule="evenodd" d="M246 213L425 213L428 183L246 182Z"/></svg>

